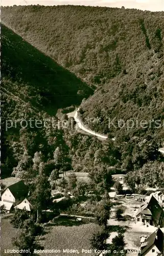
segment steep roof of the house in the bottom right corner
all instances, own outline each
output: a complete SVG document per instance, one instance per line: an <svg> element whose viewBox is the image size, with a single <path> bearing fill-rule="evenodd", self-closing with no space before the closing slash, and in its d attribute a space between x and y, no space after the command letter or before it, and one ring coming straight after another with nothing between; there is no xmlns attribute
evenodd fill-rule
<svg viewBox="0 0 164 256"><path fill-rule="evenodd" d="M157 236L157 239L156 239ZM145 255L144 253L152 246L155 245L158 250L163 253L163 232L160 228L157 228L154 233L152 233L145 241L142 243L141 247L141 255Z"/></svg>

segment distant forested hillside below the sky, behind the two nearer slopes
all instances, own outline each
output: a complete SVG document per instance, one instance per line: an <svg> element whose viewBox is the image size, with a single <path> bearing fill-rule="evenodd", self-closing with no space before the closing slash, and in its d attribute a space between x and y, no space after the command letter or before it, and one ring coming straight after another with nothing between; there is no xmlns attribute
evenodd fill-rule
<svg viewBox="0 0 164 256"><path fill-rule="evenodd" d="M2 8L2 22L85 81L100 86L160 48L163 12L85 6ZM155 36L157 34L157 36Z"/></svg>

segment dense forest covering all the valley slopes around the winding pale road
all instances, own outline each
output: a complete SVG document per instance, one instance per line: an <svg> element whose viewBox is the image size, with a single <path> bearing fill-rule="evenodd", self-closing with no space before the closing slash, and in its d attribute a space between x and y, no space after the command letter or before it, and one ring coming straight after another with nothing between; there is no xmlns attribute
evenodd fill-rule
<svg viewBox="0 0 164 256"><path fill-rule="evenodd" d="M120 129L109 118L164 121L162 17L123 8L3 7L3 173L19 176L39 152L48 175L54 154L62 156L59 169L90 173L142 173L159 160L162 125ZM5 130L7 119L52 118L79 105L83 121L109 139L54 127Z"/></svg>

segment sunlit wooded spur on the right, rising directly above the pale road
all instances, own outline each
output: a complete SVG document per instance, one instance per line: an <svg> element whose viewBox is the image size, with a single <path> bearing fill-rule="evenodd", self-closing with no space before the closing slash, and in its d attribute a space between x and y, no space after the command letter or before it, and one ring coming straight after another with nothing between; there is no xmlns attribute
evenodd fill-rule
<svg viewBox="0 0 164 256"><path fill-rule="evenodd" d="M163 140L163 69L163 56L151 50L143 53L126 74L111 79L82 103L83 119L98 117L100 122L89 122L89 126L111 137L152 135ZM119 126L120 119L125 123Z"/></svg>

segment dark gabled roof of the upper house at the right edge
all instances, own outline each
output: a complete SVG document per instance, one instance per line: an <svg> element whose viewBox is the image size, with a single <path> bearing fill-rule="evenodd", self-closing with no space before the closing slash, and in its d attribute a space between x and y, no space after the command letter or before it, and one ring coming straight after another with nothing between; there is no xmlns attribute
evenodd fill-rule
<svg viewBox="0 0 164 256"><path fill-rule="evenodd" d="M145 210L146 208L148 208L151 211L152 219L158 225L163 210L159 205L158 201L153 196L150 196L149 199L145 201L144 205L138 209L136 217L138 214L142 213L142 211Z"/></svg>

